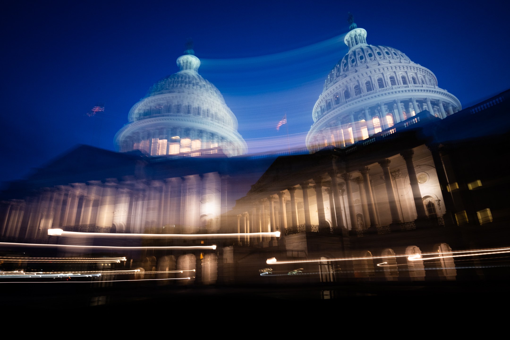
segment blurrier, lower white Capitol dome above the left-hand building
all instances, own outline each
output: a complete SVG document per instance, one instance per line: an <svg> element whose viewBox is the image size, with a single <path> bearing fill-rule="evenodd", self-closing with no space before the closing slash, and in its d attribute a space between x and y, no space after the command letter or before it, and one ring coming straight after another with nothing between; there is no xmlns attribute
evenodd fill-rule
<svg viewBox="0 0 510 340"><path fill-rule="evenodd" d="M189 47L177 58L177 73L154 84L131 108L129 123L115 136L119 151L147 155L244 154L237 118L220 91L198 74L200 59Z"/></svg>

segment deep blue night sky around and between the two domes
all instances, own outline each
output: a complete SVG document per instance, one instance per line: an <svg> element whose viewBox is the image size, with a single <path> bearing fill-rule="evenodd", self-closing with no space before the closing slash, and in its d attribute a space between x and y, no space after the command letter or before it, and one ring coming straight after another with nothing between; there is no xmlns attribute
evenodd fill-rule
<svg viewBox="0 0 510 340"><path fill-rule="evenodd" d="M503 2L10 2L3 5L0 181L76 144L113 137L148 88L177 71L188 37L245 139L305 133L347 48L347 12L367 41L402 50L468 107L510 87ZM349 4L349 5L346 5ZM104 101L101 116L84 116ZM249 143L248 143L249 145ZM303 143L304 145L304 137Z"/></svg>

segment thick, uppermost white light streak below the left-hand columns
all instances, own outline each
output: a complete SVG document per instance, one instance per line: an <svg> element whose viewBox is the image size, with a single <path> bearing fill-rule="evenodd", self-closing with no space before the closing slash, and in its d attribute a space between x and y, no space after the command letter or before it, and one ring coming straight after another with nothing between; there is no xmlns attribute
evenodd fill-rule
<svg viewBox="0 0 510 340"><path fill-rule="evenodd" d="M232 239L238 237L280 237L279 231L273 232L247 232L247 233L224 233L224 234L131 234L131 233L105 233L105 232L78 232L64 231L54 228L48 229L50 236L62 236L72 238L95 238L95 239Z"/></svg>

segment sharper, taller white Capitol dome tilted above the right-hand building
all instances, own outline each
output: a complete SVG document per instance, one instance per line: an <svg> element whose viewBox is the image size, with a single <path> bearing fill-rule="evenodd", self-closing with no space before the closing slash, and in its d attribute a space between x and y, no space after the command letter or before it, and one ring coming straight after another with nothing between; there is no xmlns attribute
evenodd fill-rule
<svg viewBox="0 0 510 340"><path fill-rule="evenodd" d="M344 38L349 51L329 72L312 112L310 151L349 146L421 111L443 119L461 110L429 69L396 48L367 44L367 31L352 15L349 23Z"/></svg>

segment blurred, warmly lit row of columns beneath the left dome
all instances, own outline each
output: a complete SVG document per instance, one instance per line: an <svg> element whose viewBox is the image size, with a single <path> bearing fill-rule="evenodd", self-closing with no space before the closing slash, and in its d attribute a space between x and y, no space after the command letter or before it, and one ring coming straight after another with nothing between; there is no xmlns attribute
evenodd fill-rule
<svg viewBox="0 0 510 340"><path fill-rule="evenodd" d="M206 173L45 188L24 200L2 202L0 236L32 239L45 237L49 228L77 225L137 233L217 232L227 187L227 178Z"/></svg>

